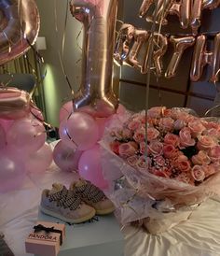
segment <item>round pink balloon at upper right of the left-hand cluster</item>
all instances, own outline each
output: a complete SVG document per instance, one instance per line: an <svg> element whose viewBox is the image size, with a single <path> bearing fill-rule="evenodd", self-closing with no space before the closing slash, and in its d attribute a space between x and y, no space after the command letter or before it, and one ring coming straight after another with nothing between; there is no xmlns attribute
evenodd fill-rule
<svg viewBox="0 0 220 256"><path fill-rule="evenodd" d="M9 146L33 153L40 149L46 140L44 125L37 120L15 121L7 132Z"/></svg>

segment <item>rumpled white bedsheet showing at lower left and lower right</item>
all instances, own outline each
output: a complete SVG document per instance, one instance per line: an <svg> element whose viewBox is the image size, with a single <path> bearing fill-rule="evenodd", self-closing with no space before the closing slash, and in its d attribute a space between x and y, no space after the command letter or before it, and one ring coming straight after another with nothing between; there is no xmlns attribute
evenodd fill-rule
<svg viewBox="0 0 220 256"><path fill-rule="evenodd" d="M31 255L25 253L24 240L37 220L42 190L50 188L53 182L68 186L74 178L73 173L63 173L53 164L45 174L26 176L21 189L0 194L0 231L16 256ZM208 200L190 220L162 235L148 235L133 227L126 227L123 233L126 256L217 256L220 255L220 203Z"/></svg>

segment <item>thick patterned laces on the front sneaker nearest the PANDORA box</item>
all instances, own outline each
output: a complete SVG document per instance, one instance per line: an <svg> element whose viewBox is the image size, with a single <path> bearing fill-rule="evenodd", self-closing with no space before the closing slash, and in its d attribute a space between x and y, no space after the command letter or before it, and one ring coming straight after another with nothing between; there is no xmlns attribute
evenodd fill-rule
<svg viewBox="0 0 220 256"><path fill-rule="evenodd" d="M68 191L64 186L61 191L50 194L49 201L56 201L58 206L62 206L64 209L69 208L71 210L76 210L81 204L81 199L78 194L73 191Z"/></svg>

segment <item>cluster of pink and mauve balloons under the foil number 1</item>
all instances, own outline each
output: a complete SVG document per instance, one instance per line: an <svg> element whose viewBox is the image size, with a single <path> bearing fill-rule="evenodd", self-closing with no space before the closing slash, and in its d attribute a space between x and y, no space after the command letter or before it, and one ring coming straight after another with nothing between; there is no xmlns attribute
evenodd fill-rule
<svg viewBox="0 0 220 256"><path fill-rule="evenodd" d="M117 113L108 118L99 118L84 111L84 108L79 108L75 112L72 101L62 106L59 129L61 140L53 150L53 159L63 171L78 170L81 177L104 189L107 183L103 178L98 141L108 124L124 113L125 108L119 105Z"/></svg>

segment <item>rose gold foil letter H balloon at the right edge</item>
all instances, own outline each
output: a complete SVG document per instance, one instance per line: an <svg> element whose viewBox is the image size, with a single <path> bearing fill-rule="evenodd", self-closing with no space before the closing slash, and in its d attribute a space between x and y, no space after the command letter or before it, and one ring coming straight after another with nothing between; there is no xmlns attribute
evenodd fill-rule
<svg viewBox="0 0 220 256"><path fill-rule="evenodd" d="M218 81L218 70L220 68L220 33L214 37L213 50L206 49L206 36L197 37L196 46L193 53L193 60L190 72L192 81L198 81L202 75L203 68L206 64L211 65L212 77L211 81Z"/></svg>

